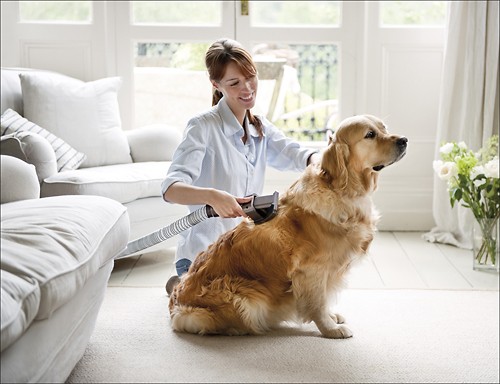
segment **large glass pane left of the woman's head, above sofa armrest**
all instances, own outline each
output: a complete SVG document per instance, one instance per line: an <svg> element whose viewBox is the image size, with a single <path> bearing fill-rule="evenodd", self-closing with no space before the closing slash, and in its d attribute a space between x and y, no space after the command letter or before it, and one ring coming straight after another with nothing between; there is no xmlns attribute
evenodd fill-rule
<svg viewBox="0 0 500 384"><path fill-rule="evenodd" d="M135 120L183 127L211 105L212 87L205 70L207 43L135 44Z"/></svg>

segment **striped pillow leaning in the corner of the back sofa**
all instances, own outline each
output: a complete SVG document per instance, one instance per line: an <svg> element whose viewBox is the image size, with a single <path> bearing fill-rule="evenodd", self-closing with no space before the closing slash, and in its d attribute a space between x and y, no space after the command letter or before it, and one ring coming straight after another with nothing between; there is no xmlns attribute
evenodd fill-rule
<svg viewBox="0 0 500 384"><path fill-rule="evenodd" d="M54 149L58 172L77 169L87 158L84 153L78 152L64 140L25 119L12 109L7 109L2 114L1 127L2 136L19 131L30 131L44 137Z"/></svg>

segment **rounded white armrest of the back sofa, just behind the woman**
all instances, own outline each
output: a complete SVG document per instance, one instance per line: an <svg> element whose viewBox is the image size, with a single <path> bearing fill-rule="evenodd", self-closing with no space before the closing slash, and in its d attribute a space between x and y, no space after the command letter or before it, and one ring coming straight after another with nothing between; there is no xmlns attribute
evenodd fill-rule
<svg viewBox="0 0 500 384"><path fill-rule="evenodd" d="M134 163L145 161L170 161L182 140L182 134L175 127L166 124L152 124L125 131Z"/></svg>

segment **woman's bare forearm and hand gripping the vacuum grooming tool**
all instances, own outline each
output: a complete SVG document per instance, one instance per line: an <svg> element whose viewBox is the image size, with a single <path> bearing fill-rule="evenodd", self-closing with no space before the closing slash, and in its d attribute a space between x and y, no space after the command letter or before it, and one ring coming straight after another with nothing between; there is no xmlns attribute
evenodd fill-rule
<svg viewBox="0 0 500 384"><path fill-rule="evenodd" d="M183 182L172 184L163 194L166 201L183 205L210 205L219 217L247 216L239 203L251 201L251 197L236 197L215 188L195 187Z"/></svg>

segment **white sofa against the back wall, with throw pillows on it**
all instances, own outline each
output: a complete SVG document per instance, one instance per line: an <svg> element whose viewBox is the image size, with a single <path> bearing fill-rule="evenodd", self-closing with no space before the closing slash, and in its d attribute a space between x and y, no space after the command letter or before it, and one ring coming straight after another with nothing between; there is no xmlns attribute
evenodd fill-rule
<svg viewBox="0 0 500 384"><path fill-rule="evenodd" d="M98 195L116 200L128 210L130 240L188 213L185 206L165 203L160 192L183 127L155 124L123 131L119 78L84 83L35 69L1 72L1 153L35 165L41 197ZM85 157L83 162L78 156ZM174 237L150 250L176 242Z"/></svg>

